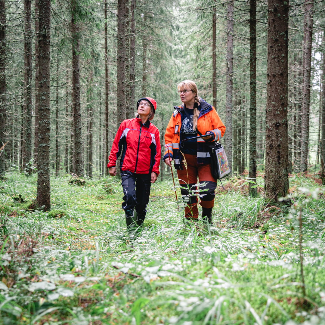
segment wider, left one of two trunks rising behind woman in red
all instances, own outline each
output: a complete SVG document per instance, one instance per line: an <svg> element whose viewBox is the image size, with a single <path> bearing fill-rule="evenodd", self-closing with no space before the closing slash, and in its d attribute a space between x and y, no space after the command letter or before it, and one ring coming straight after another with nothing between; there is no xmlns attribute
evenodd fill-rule
<svg viewBox="0 0 325 325"><path fill-rule="evenodd" d="M125 109L125 0L117 1L117 127L126 118Z"/></svg>

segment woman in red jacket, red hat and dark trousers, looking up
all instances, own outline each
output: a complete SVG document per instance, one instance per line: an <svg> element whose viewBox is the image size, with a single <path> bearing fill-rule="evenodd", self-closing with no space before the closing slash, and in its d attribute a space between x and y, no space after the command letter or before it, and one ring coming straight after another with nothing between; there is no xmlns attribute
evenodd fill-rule
<svg viewBox="0 0 325 325"><path fill-rule="evenodd" d="M116 175L116 160L121 155L120 169L123 187L122 208L130 239L143 224L149 202L150 185L157 180L160 164L160 136L153 119L157 103L153 98L140 98L137 116L124 120L110 151L109 173Z"/></svg>

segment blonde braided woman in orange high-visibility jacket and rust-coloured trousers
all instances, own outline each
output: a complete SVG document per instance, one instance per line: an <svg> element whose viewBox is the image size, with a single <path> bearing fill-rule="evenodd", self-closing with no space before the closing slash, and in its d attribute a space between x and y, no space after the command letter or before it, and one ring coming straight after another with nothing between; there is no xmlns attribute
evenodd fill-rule
<svg viewBox="0 0 325 325"><path fill-rule="evenodd" d="M219 141L226 127L215 108L198 96L198 88L193 81L184 80L177 88L182 104L174 106L167 125L163 160L168 166L174 160L182 197L187 203L185 218L197 221L198 196L195 194L198 192L202 219L212 224L217 180L211 174L211 156L206 142ZM190 139L201 135L206 136Z"/></svg>

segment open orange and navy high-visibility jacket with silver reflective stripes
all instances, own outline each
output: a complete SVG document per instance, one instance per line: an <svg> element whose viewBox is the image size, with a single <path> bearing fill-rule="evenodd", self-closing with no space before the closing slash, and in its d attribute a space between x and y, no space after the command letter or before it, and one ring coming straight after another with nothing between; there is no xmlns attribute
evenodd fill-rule
<svg viewBox="0 0 325 325"><path fill-rule="evenodd" d="M203 99L200 100L200 105L198 107L200 110L198 118L197 129L201 134L205 134L207 131L212 131L214 133L214 140L219 141L224 135L226 127L222 123L218 113L213 106L208 104ZM174 165L176 169L181 168L182 154L179 149L180 143L182 141L182 134L180 132L182 126L182 117L184 110L182 106L179 106L172 117L166 128L165 133L165 155L163 160L170 157L174 159ZM198 134L199 136L200 134ZM205 145L205 141L202 138L197 140L197 160L198 163L211 163L211 157L209 153L209 147Z"/></svg>

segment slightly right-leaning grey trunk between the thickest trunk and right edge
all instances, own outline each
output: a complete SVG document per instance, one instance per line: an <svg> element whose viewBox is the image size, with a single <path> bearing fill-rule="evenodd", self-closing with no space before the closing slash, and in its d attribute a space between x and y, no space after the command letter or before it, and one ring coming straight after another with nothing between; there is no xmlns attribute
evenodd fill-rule
<svg viewBox="0 0 325 325"><path fill-rule="evenodd" d="M303 43L303 107L302 107L302 138L301 138L301 167L302 172L308 167L309 142L309 105L310 105L310 72L311 47L313 35L313 6L314 0L305 3L304 43Z"/></svg>

